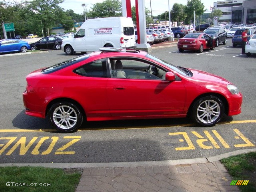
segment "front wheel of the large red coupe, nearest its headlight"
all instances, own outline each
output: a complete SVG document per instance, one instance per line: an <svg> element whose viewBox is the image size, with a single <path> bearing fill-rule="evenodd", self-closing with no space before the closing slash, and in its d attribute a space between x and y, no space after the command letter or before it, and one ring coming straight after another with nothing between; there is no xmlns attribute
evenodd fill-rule
<svg viewBox="0 0 256 192"><path fill-rule="evenodd" d="M223 102L215 96L198 99L191 109L191 119L204 127L215 126L224 114Z"/></svg>

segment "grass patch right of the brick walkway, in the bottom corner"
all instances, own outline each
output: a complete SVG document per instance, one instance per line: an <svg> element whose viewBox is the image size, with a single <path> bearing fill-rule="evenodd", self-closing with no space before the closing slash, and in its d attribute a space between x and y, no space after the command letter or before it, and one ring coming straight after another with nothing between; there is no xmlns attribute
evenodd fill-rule
<svg viewBox="0 0 256 192"><path fill-rule="evenodd" d="M256 191L256 152L225 158L220 162L233 180L249 180L248 185L238 186L242 192Z"/></svg>

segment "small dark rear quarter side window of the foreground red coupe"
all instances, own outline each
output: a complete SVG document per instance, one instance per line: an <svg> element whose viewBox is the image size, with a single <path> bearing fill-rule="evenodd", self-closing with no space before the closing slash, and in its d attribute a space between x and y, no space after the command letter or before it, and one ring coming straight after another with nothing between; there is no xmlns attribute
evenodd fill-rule
<svg viewBox="0 0 256 192"><path fill-rule="evenodd" d="M74 72L86 77L108 77L105 59L87 63L86 65L75 69Z"/></svg>

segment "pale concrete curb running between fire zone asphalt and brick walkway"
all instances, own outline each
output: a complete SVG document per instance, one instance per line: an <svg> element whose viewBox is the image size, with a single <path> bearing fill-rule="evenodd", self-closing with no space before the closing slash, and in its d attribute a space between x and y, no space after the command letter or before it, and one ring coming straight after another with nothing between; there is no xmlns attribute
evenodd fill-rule
<svg viewBox="0 0 256 192"><path fill-rule="evenodd" d="M238 150L222 155L197 159L180 159L173 161L144 161L144 162L117 162L117 163L6 163L0 164L0 167L6 166L31 166L31 167L49 167L49 168L116 168L116 167L144 167L144 166L170 166L170 165L189 165L217 162L223 158L256 152L256 149Z"/></svg>

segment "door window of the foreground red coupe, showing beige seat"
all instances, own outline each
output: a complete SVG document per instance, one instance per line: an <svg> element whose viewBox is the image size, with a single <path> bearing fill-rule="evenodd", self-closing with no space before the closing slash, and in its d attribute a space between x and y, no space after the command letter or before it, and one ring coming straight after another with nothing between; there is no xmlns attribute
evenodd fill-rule
<svg viewBox="0 0 256 192"><path fill-rule="evenodd" d="M123 79L165 79L166 71L140 60L110 59L111 77Z"/></svg>

